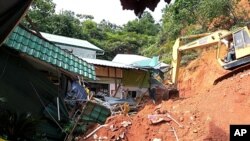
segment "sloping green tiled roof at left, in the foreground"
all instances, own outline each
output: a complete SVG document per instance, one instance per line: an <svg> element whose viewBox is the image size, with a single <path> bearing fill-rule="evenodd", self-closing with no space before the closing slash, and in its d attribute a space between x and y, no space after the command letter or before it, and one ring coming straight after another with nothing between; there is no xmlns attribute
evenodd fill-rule
<svg viewBox="0 0 250 141"><path fill-rule="evenodd" d="M15 27L4 44L56 67L95 80L93 65L20 26Z"/></svg>

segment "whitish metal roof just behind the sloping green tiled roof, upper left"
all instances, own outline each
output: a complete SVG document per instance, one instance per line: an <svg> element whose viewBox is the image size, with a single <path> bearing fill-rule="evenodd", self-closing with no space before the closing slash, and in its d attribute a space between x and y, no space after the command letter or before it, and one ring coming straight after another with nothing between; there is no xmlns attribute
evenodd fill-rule
<svg viewBox="0 0 250 141"><path fill-rule="evenodd" d="M49 34L49 33L43 33L43 32L40 32L40 33L42 34L44 38L54 43L66 44L69 46L77 46L80 48L87 48L87 49L96 50L99 52L104 52L104 50L100 49L99 47L91 44L90 42L86 40L80 40L80 39L54 35L54 34Z"/></svg>

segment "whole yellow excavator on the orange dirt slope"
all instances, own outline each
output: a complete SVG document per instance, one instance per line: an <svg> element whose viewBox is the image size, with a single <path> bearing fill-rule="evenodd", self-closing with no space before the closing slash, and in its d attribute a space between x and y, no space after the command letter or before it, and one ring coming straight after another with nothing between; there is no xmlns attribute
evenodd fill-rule
<svg viewBox="0 0 250 141"><path fill-rule="evenodd" d="M193 41L185 44L185 41L191 39ZM247 27L242 27L234 31L219 30L213 33L181 37L176 40L172 54L171 84L173 84L175 89L177 89L182 52L212 46L217 46L216 59L221 67L231 70L229 73L217 78L214 84L250 68L250 34ZM225 53L225 50L228 50L226 48L230 48L230 51ZM232 56L231 60L224 58L227 55Z"/></svg>

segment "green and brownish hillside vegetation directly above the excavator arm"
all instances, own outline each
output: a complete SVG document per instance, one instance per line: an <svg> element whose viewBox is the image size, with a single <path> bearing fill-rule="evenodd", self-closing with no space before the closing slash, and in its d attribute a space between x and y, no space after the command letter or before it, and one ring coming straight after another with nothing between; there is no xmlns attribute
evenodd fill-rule
<svg viewBox="0 0 250 141"><path fill-rule="evenodd" d="M248 4L248 9L242 9L240 2L240 0L176 0L173 5L164 9L161 31L154 48L164 50L160 55L163 60L170 62L172 46L180 36L213 32L218 29L230 30L246 25L242 23L249 21L249 14L246 13L250 7ZM192 52L187 54L183 58L184 62L187 62L185 58L195 56L196 54Z"/></svg>

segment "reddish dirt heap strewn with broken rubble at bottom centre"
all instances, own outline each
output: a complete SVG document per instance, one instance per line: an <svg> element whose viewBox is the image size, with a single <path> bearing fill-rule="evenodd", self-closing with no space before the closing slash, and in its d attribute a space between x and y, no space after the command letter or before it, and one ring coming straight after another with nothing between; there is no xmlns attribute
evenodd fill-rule
<svg viewBox="0 0 250 141"><path fill-rule="evenodd" d="M115 115L107 119L107 128L96 132L98 137L107 140L175 140L177 130L185 130L179 118L172 115L166 107L152 104L148 100L145 107L136 115ZM93 129L94 130L94 129ZM88 140L93 140L94 136Z"/></svg>

